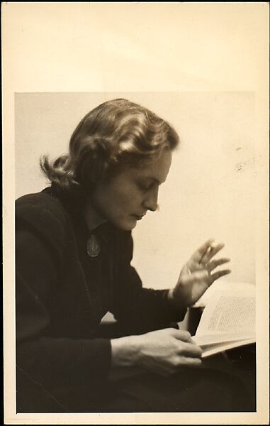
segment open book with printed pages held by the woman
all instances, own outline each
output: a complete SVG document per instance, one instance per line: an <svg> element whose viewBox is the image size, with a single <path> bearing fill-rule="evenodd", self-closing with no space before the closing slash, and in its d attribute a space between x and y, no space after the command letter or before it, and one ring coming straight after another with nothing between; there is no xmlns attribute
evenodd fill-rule
<svg viewBox="0 0 270 426"><path fill-rule="evenodd" d="M193 341L203 349L203 357L255 342L254 285L216 283L197 306L203 314Z"/></svg>

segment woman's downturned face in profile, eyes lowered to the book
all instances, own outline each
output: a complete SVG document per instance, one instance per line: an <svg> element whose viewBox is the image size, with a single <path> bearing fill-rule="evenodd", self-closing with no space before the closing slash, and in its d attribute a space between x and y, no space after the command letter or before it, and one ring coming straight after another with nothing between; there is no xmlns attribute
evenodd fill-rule
<svg viewBox="0 0 270 426"><path fill-rule="evenodd" d="M110 182L98 183L91 195L91 208L101 221L120 229L135 228L147 210L157 209L159 185L167 178L171 151L164 149L151 163L121 170Z"/></svg>

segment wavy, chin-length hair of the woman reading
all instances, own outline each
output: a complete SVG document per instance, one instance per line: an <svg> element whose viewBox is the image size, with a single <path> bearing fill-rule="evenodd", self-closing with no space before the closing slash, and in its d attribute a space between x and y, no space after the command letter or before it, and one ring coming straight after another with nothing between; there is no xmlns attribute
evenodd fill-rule
<svg viewBox="0 0 270 426"><path fill-rule="evenodd" d="M69 153L40 168L62 190L88 191L121 168L136 166L179 143L176 131L149 109L126 99L104 102L80 121L69 142Z"/></svg>

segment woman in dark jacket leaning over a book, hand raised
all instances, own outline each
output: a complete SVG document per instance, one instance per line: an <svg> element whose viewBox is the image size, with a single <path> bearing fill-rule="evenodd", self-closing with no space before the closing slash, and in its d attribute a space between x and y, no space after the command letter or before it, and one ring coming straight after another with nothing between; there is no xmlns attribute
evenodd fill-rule
<svg viewBox="0 0 270 426"><path fill-rule="evenodd" d="M151 111L105 102L67 155L41 160L50 187L17 200L18 412L242 410L230 396L239 383L198 368L201 348L176 326L230 272L214 271L229 260L213 259L223 244L203 244L171 290L142 288L130 266L131 230L157 209L178 143ZM101 337L108 311L117 334ZM219 402L198 398L201 387Z"/></svg>

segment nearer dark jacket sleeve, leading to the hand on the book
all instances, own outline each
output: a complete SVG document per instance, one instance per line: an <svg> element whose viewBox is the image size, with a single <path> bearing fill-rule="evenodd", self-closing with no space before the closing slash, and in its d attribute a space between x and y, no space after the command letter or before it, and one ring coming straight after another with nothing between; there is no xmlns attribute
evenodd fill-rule
<svg viewBox="0 0 270 426"><path fill-rule="evenodd" d="M50 209L19 206L16 216L16 365L38 386L101 383L111 364L108 339L50 336L50 297L64 251L64 221Z"/></svg>

